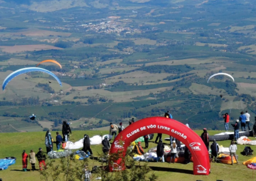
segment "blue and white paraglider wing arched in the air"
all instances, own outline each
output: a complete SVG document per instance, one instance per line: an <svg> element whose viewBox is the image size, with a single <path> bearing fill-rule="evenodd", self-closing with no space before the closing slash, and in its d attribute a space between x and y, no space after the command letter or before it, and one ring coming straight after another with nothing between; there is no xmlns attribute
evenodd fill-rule
<svg viewBox="0 0 256 181"><path fill-rule="evenodd" d="M10 75L8 75L6 77L6 79L5 79L5 81L3 81L3 85L2 85L3 91L5 91L5 87L7 86L7 83L9 83L11 81L11 79L13 79L14 77L16 77L20 74L28 73L28 72L31 72L31 71L42 71L44 73L52 75L52 77L54 77L56 79L56 81L59 82L60 86L62 87L60 79L57 78L57 76L55 74L53 74L51 71L46 70L46 69L41 69L41 68L24 68L24 69L16 70L16 71L14 71L13 73L11 73Z"/></svg>

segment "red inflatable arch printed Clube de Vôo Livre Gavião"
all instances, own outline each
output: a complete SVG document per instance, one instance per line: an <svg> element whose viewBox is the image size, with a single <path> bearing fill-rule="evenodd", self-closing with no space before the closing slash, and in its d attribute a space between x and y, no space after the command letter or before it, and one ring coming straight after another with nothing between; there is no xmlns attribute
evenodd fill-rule
<svg viewBox="0 0 256 181"><path fill-rule="evenodd" d="M118 150L122 149L123 157L125 157L127 147L130 146L131 142L151 133L168 134L183 142L193 155L193 174L209 175L209 153L203 140L184 124L166 117L149 117L129 125L114 139L110 148L110 154L117 153ZM123 146L119 145L119 140L123 141ZM114 165L109 165L110 171L125 170L125 166L120 164L121 159L119 158L117 161L114 161Z"/></svg>

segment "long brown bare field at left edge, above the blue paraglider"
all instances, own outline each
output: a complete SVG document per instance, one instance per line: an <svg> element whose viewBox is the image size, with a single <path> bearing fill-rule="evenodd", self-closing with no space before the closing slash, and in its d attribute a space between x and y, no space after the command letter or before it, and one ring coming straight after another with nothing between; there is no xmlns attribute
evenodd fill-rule
<svg viewBox="0 0 256 181"><path fill-rule="evenodd" d="M34 50L49 50L49 49L62 49L58 47L53 47L51 45L41 44L41 45L15 45L15 46L0 46L3 52L17 53L26 52Z"/></svg>

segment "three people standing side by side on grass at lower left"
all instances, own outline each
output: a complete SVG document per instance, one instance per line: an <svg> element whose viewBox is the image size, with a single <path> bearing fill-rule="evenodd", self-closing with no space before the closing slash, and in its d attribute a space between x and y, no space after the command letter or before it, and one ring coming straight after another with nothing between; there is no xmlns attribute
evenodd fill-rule
<svg viewBox="0 0 256 181"><path fill-rule="evenodd" d="M38 153L35 154L34 150L30 150L30 153L27 154L26 150L23 150L22 152L22 170L27 171L27 163L28 163L28 158L30 158L30 164L31 164L31 170L35 171L35 163L36 163L36 158L38 158L39 162L39 169L43 170L42 165L46 169L46 155L43 153L42 148L39 148Z"/></svg>

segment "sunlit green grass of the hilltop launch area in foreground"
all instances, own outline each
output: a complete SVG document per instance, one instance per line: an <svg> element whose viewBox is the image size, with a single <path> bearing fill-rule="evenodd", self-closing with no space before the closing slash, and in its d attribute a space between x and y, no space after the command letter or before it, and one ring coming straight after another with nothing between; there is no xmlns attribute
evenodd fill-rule
<svg viewBox="0 0 256 181"><path fill-rule="evenodd" d="M210 135L220 133L221 131L209 131ZM71 140L77 141L84 136L84 134L88 134L90 137L96 134L107 134L107 131L74 131ZM196 131L196 133L201 134L201 131ZM55 135L55 132L52 132L52 135ZM22 172L22 161L21 154L22 150L25 149L27 152L30 149L34 149L38 151L39 147L42 147L45 150L44 146L44 136L45 132L28 132L28 133L0 133L0 158L4 157L16 157L16 163L13 166L10 166L7 170L0 171L0 178L3 180L28 180L35 181L40 180L39 172ZM156 137L156 134L155 134ZM154 137L154 139L155 139ZM163 138L168 137L167 135L163 135ZM54 137L53 137L54 138ZM153 141L154 141L153 139ZM251 138L255 140L255 138ZM170 144L167 141L164 141L164 144ZM218 142L219 145L223 145L224 147L228 147L230 145L230 141L221 141ZM144 146L144 143L142 143ZM152 141L150 141L149 148L156 146ZM192 174L192 166L193 163L189 163L188 165L183 165L179 163L170 164L170 163L148 163L148 166L151 167L152 171L158 176L158 180L171 180L175 178L175 180L255 180L255 176L253 178L253 170L247 169L246 166L242 165L243 161L247 159L253 158L244 157L240 154L245 145L237 145L238 150L238 159L240 161L239 165L225 165L222 163L212 163L211 165L211 173L208 176L195 176ZM255 146L251 146L253 150L256 150ZM56 150L56 146L54 145L54 150ZM92 151L94 156L97 157L98 154L101 153L101 145L92 146ZM100 165L98 161L92 161L89 159L89 167L93 165ZM36 163L36 168L38 169L38 163ZM151 171L151 172L152 172ZM148 173L150 174L150 172ZM93 178L96 175L93 175Z"/></svg>

